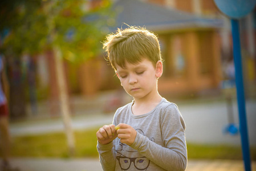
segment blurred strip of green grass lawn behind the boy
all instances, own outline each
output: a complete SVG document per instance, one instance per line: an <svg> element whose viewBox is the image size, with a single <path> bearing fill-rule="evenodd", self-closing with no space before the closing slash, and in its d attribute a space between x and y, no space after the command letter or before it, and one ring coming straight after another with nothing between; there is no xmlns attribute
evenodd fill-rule
<svg viewBox="0 0 256 171"><path fill-rule="evenodd" d="M76 149L74 157L98 157L96 132L98 128L75 131ZM188 143L189 159L242 160L240 146L203 145ZM256 160L256 148L250 148L251 160ZM68 158L64 133L14 137L11 154L13 157L60 157Z"/></svg>

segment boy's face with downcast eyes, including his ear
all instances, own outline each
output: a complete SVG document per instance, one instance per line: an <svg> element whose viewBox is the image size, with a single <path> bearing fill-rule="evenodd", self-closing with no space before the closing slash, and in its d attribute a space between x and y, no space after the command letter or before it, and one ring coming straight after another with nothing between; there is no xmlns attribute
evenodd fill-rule
<svg viewBox="0 0 256 171"><path fill-rule="evenodd" d="M157 93L157 78L162 74L162 63L156 66L144 58L137 64L125 63L125 68L116 65L116 74L125 91L134 99L153 97ZM161 70L161 71L160 71Z"/></svg>

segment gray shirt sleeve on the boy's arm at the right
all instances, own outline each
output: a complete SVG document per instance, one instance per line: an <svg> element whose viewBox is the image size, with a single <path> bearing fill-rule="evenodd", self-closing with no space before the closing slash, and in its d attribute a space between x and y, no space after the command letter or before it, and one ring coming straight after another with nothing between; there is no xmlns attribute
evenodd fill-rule
<svg viewBox="0 0 256 171"><path fill-rule="evenodd" d="M165 170L185 170L187 165L185 122L174 104L168 105L162 114L160 128L165 146L156 144L148 137L137 133L131 147Z"/></svg>

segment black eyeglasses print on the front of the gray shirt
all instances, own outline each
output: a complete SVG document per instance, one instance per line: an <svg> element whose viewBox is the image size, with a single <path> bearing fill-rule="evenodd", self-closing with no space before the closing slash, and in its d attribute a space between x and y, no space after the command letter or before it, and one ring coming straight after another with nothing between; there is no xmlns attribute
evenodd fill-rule
<svg viewBox="0 0 256 171"><path fill-rule="evenodd" d="M121 166L122 170L128 170L131 167L131 163L133 162L134 166L138 170L145 170L148 168L150 160L147 157L123 157L117 156L117 160L119 161L119 165Z"/></svg>

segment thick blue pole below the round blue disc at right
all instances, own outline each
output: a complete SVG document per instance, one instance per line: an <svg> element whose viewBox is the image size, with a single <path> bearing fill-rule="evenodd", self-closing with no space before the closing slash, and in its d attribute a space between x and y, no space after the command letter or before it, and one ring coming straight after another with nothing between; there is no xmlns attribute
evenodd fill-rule
<svg viewBox="0 0 256 171"><path fill-rule="evenodd" d="M239 127L241 132L241 143L243 153L243 163L246 171L251 171L250 150L247 134L247 121L245 111L245 95L243 92L243 73L242 73L242 60L241 48L239 38L239 21L231 19L232 37L233 37L233 55L235 64L235 84L237 86L237 103L239 112Z"/></svg>

